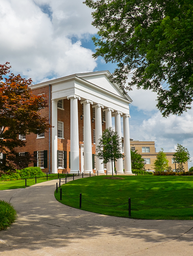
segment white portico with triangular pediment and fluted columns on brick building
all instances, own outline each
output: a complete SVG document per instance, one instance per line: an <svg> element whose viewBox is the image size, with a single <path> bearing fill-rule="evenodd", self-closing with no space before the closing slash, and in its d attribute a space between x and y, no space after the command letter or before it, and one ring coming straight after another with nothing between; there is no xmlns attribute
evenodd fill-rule
<svg viewBox="0 0 193 256"><path fill-rule="evenodd" d="M36 86L51 85L51 148L52 148L52 173L58 172L58 106L59 100L70 101L70 121L64 123L64 126L70 126L70 173L80 171L80 166L84 167L84 173L93 173L93 143L91 138L91 125L95 125L95 148L98 145L98 139L102 135L102 117L105 112L105 128L112 127L112 116L115 117L115 131L120 139L121 116L124 119L124 168L125 174L131 174L130 160L130 138L129 138L129 104L132 102L128 95L124 95L116 83L108 80L109 71L97 71L82 74L73 74L63 78L58 78L49 82L41 83ZM80 103L83 106L83 126L80 127ZM79 109L78 109L79 104ZM91 120L91 110L95 110L95 120ZM64 108L64 115L67 115ZM102 129L103 128L103 129ZM83 142L80 142L80 135L83 133ZM67 143L68 138L65 135L61 141ZM121 140L120 140L121 143ZM83 153L83 157L82 157ZM80 164L81 159L84 163ZM105 174L102 160L95 157L95 171L99 174ZM123 174L123 159L116 162L117 173ZM107 163L107 173L112 174L111 163Z"/></svg>

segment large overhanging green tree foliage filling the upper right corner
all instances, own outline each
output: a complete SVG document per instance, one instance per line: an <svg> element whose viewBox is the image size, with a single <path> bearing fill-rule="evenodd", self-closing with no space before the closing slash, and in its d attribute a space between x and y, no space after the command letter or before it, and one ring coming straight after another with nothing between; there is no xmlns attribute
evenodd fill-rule
<svg viewBox="0 0 193 256"><path fill-rule="evenodd" d="M163 116L182 114L193 100L193 1L85 0L98 37L93 57L117 63L110 80L157 92ZM125 86L128 76L132 80ZM164 84L164 85L163 85Z"/></svg>

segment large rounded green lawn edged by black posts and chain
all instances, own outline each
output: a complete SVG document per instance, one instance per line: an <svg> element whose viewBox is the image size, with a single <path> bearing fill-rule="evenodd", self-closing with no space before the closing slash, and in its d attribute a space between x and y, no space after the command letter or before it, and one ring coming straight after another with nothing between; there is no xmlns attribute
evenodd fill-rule
<svg viewBox="0 0 193 256"><path fill-rule="evenodd" d="M79 208L79 198L71 197L79 197L81 193L82 210L126 218L129 218L127 202L130 197L131 218L193 220L193 176L119 176L124 180L105 177L74 180L61 186L62 201L59 189L55 197L63 204ZM124 205L114 206L118 204Z"/></svg>

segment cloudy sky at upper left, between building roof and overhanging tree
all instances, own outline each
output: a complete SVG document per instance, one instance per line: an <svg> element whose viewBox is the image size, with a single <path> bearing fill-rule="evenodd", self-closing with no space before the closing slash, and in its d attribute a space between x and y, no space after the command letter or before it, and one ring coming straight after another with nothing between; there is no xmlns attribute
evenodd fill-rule
<svg viewBox="0 0 193 256"><path fill-rule="evenodd" d="M1 0L0 59L34 82L93 71L81 38L95 33L91 10L79 0ZM72 36L80 38L73 43Z"/></svg>

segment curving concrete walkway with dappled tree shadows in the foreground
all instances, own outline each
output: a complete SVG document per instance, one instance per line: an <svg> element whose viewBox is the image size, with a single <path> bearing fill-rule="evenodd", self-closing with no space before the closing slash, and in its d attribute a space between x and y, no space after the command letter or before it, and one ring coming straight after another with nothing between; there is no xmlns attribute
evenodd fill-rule
<svg viewBox="0 0 193 256"><path fill-rule="evenodd" d="M0 231L0 256L191 256L193 221L134 220L90 213L56 201L52 180L1 190L18 213Z"/></svg>

